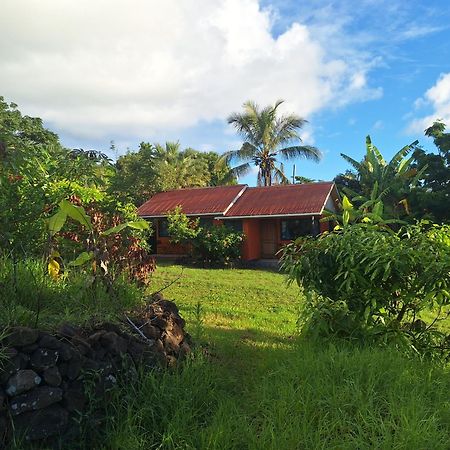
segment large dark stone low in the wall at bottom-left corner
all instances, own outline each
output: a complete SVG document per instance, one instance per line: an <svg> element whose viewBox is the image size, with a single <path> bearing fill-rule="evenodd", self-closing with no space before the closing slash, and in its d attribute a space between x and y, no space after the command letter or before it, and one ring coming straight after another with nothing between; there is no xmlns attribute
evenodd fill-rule
<svg viewBox="0 0 450 450"><path fill-rule="evenodd" d="M67 426L69 413L59 405L30 411L14 418L15 430L29 441L62 434Z"/></svg>

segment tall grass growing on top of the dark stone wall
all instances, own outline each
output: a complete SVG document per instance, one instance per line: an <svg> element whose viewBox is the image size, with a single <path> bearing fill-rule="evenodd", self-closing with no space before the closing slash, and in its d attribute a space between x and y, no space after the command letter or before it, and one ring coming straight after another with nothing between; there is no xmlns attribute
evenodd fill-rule
<svg viewBox="0 0 450 450"><path fill-rule="evenodd" d="M117 320L141 297L142 292L124 279L117 280L112 295L101 283L92 283L86 272L74 271L53 280L42 260L0 257L1 326L51 328L65 321Z"/></svg>

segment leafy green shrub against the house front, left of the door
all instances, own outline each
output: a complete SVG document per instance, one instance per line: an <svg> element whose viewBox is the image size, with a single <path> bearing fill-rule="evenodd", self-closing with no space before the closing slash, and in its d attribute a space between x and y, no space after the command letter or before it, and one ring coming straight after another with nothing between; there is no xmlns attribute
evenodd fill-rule
<svg viewBox="0 0 450 450"><path fill-rule="evenodd" d="M191 220L176 208L168 216L168 228L175 243L189 246L192 256L203 262L230 263L240 258L244 236L223 224L200 226L199 219Z"/></svg>

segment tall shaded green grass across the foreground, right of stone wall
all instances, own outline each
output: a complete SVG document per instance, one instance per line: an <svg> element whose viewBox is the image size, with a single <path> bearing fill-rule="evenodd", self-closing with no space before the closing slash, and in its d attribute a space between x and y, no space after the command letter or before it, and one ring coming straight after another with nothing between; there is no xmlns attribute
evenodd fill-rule
<svg viewBox="0 0 450 450"><path fill-rule="evenodd" d="M442 367L307 342L265 357L253 379L204 358L142 375L117 393L99 448L448 449Z"/></svg>

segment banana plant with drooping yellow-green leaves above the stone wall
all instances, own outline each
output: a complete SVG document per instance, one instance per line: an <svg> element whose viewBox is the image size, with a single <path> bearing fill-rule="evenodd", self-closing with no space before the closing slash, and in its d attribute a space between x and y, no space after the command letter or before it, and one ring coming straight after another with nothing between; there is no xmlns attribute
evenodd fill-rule
<svg viewBox="0 0 450 450"><path fill-rule="evenodd" d="M74 260L70 261L67 264L67 267L79 267L90 262L94 276L97 275L100 268L101 275L104 278L109 275L109 260L105 251L102 251L100 248L99 240L102 237L118 234L125 228L132 228L135 230L148 230L150 228L147 221L136 220L124 222L105 231L97 232L92 225L90 216L86 214L86 211L82 206L74 205L68 200L62 200L59 203L56 213L47 219L47 229L50 238L53 238L61 231L69 218L80 224L88 232L88 237L85 241L85 251L81 252ZM48 260L48 273L54 279L60 276L60 261L60 254L56 251L51 252Z"/></svg>

